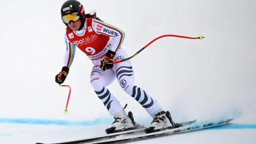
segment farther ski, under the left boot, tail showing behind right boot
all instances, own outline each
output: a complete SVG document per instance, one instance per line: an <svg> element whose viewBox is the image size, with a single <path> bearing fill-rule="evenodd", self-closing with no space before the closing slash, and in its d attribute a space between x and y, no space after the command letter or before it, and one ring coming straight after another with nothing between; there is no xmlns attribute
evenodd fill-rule
<svg viewBox="0 0 256 144"><path fill-rule="evenodd" d="M186 125L193 124L194 122L196 122L196 120L192 120L189 122L182 122L180 124L183 126L186 126ZM129 131L114 132L111 134L103 134L100 136L93 136L93 137L85 138L85 139L81 139L81 140L63 141L60 143L36 143L36 144L78 144L78 143L87 143L87 142L99 141L99 140L109 140L111 138L115 138L116 136L120 136L120 135L122 135L122 136L130 135L130 134L134 134L136 136L142 135L142 134L145 134L145 132L144 132L145 129L146 129L146 127L143 127L143 128L133 129L133 130L129 130Z"/></svg>

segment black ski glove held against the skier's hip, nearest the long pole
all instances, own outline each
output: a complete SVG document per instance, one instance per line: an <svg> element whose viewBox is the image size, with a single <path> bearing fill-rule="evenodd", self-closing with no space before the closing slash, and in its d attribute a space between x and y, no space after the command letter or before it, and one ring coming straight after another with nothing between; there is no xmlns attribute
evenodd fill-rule
<svg viewBox="0 0 256 144"><path fill-rule="evenodd" d="M115 56L116 52L113 52L113 51L108 51L105 58L103 60L101 60L101 65L100 65L100 68L102 70L108 70L108 69L111 69L113 68L113 61L114 61L114 56Z"/></svg>

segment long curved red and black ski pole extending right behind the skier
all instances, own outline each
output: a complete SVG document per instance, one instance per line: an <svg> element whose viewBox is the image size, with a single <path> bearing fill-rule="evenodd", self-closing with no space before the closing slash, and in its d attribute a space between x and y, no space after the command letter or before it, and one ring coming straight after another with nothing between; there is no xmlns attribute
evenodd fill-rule
<svg viewBox="0 0 256 144"><path fill-rule="evenodd" d="M204 36L198 36L198 37L188 37L188 36L180 36L180 35L162 35L162 36L158 36L157 38L155 38L154 40L152 40L150 43L148 43L147 45L145 45L142 49L140 49L140 51L136 52L135 54L133 54L131 57L129 58L125 58L124 60L118 60L115 61L114 64L116 63L121 63L123 61L127 61L130 60L131 58L134 58L134 56L136 56L137 54L139 54L141 51L143 51L143 49L146 49L146 47L148 47L148 45L152 44L153 42L155 42L156 40L158 40L159 38L163 38L166 36L172 36L172 37L178 37L178 38L189 38L189 39L200 39L202 40L204 38Z"/></svg>

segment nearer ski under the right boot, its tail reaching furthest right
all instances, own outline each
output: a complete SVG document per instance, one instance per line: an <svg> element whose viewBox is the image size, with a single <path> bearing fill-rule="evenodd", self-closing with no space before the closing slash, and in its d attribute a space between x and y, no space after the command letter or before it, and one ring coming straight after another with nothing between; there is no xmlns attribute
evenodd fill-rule
<svg viewBox="0 0 256 144"><path fill-rule="evenodd" d="M221 120L220 122L209 122L207 124L203 124L203 125L186 125L185 127L178 127L175 129L168 129L168 130L164 130L164 131L159 131L159 132L152 132L152 133L148 133L148 134L140 134L140 135L136 135L136 136L129 136L127 138L120 138L120 139L114 139L114 140L104 140L104 141L99 141L99 142L95 142L94 144L103 144L103 143L127 143L127 142L132 142L132 141L139 141L139 140L145 140L148 138L158 138L160 136L168 136L171 134L178 134L181 132L189 132L189 131L196 131L196 130L200 130L200 129L207 129L210 127L217 127L220 125L225 125L228 124L228 122L230 122L231 120L233 120L233 118L231 119L227 119L227 120Z"/></svg>

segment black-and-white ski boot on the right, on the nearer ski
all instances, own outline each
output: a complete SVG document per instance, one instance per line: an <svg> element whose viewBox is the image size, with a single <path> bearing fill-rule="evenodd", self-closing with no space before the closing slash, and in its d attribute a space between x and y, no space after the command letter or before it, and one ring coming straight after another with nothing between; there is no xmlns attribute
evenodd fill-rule
<svg viewBox="0 0 256 144"><path fill-rule="evenodd" d="M173 122L169 111L159 110L154 114L155 118L151 122L150 127L145 129L146 133L164 131L166 129L175 129L182 127L181 124Z"/></svg>

